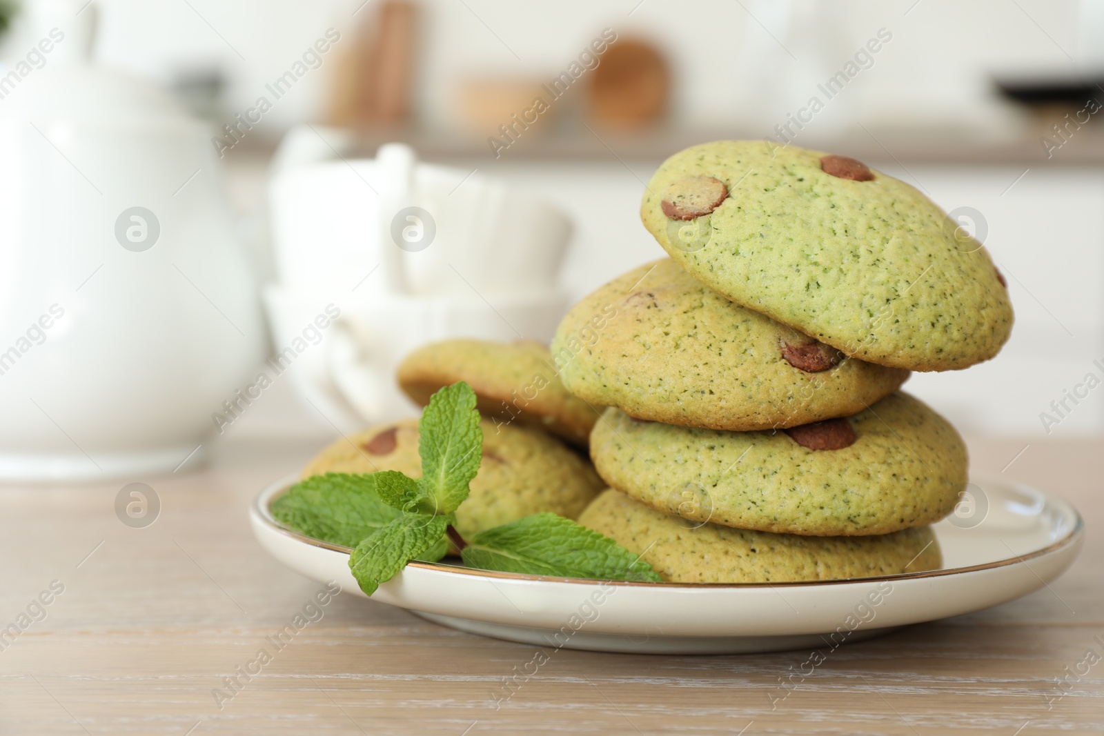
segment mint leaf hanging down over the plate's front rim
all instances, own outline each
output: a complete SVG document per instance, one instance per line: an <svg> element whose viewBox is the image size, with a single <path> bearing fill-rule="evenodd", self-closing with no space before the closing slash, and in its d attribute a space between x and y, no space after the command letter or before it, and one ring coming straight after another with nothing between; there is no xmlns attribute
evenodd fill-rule
<svg viewBox="0 0 1104 736"><path fill-rule="evenodd" d="M444 543L447 516L402 514L361 541L349 555L349 569L360 589L372 595L412 559Z"/></svg>

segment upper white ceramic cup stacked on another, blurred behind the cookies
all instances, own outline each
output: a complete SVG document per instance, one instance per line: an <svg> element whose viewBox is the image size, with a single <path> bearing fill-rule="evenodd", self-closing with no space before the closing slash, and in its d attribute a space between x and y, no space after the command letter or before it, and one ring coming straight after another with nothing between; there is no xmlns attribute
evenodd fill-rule
<svg viewBox="0 0 1104 736"><path fill-rule="evenodd" d="M351 288L380 268L378 288L392 294L555 288L571 221L498 179L417 163L401 145L382 147L374 160L282 158L296 161L279 167L269 184L276 270L285 286Z"/></svg>

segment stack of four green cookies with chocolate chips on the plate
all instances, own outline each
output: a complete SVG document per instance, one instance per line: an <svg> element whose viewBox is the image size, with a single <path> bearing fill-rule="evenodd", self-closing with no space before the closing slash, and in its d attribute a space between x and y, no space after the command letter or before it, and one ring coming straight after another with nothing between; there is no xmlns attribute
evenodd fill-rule
<svg viewBox="0 0 1104 736"><path fill-rule="evenodd" d="M938 567L966 448L898 388L996 355L1012 310L979 243L853 159L721 141L668 159L645 226L670 258L583 299L552 344L607 408L609 490L580 522L665 579L838 579Z"/></svg>

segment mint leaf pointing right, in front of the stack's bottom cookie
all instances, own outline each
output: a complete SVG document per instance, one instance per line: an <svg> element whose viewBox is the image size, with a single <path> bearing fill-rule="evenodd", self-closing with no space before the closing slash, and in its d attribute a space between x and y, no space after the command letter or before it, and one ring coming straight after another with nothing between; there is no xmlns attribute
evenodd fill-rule
<svg viewBox="0 0 1104 736"><path fill-rule="evenodd" d="M503 573L662 582L648 563L609 537L546 511L479 532L461 554L468 567Z"/></svg>

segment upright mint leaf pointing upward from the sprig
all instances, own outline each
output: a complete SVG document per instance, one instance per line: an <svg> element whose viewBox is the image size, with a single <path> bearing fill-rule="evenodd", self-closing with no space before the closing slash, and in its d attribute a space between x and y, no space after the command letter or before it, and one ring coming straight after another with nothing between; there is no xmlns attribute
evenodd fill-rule
<svg viewBox="0 0 1104 736"><path fill-rule="evenodd" d="M468 483L482 460L482 429L471 386L454 383L429 399L418 422L418 487L439 513L452 513L468 498Z"/></svg>

